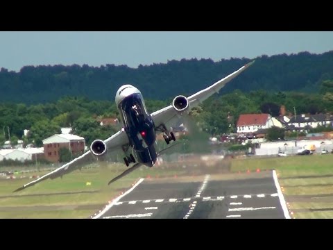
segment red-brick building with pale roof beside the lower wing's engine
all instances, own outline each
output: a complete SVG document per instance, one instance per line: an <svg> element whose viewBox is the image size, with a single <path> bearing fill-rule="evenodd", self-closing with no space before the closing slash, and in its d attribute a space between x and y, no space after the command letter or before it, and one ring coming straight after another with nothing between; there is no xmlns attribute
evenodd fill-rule
<svg viewBox="0 0 333 250"><path fill-rule="evenodd" d="M59 161L59 149L65 147L72 155L84 153L85 138L72 134L56 134L43 140L45 159L56 163Z"/></svg>

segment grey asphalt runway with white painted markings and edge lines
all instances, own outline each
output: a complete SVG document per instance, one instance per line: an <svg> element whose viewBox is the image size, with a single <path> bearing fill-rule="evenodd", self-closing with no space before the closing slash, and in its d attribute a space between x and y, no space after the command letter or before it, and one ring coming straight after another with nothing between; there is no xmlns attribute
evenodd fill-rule
<svg viewBox="0 0 333 250"><path fill-rule="evenodd" d="M237 177L140 179L94 218L290 218L275 172Z"/></svg>

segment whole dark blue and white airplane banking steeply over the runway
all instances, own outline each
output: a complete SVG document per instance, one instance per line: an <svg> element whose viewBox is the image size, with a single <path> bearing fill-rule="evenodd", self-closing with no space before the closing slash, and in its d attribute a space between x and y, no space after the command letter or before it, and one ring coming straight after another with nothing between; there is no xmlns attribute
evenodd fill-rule
<svg viewBox="0 0 333 250"><path fill-rule="evenodd" d="M83 153L82 156L78 156L78 158L71 160L62 167L23 185L14 192L28 188L48 178L62 177L64 174L81 169L87 163L92 163L94 160L103 159L103 157L111 156L112 154L119 155L119 153L122 153L125 156L123 161L127 167L130 163L135 163L133 167L130 167L123 174L131 172L141 165L153 167L160 153L157 153L156 150L156 133L163 133L163 138L167 144L172 140L176 141L175 135L169 129L171 124L176 122L182 115L188 114L191 108L198 106L205 99L211 97L212 94L219 93L219 90L226 83L241 74L253 63L255 63L255 60L225 76L225 78L210 85L210 87L200 90L189 97L178 95L169 106L151 114L146 110L142 93L133 85L122 85L115 96L115 103L123 126L120 131L106 140L94 140L89 150ZM109 184L119 177L112 179Z"/></svg>

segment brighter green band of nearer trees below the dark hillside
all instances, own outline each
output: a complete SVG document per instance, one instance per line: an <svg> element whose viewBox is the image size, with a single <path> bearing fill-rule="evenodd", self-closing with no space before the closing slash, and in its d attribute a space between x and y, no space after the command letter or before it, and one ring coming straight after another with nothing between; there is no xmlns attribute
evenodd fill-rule
<svg viewBox="0 0 333 250"><path fill-rule="evenodd" d="M189 114L201 131L210 135L220 135L236 131L241 114L269 113L280 115L284 106L286 115L300 113L333 113L333 80L323 80L318 84L318 93L233 90L230 93L215 94ZM171 103L171 99L146 99L149 113ZM295 108L294 108L295 107ZM100 126L103 117L117 117L119 113L114 101L96 101L87 97L62 97L58 101L26 105L25 103L0 103L0 145L9 140L12 144L18 139L24 144L34 143L42 147L42 140L60 133L61 127L72 127L73 133L83 136L87 145L96 138L105 140L120 129L120 124ZM24 129L30 130L28 137ZM9 133L8 133L9 132Z"/></svg>

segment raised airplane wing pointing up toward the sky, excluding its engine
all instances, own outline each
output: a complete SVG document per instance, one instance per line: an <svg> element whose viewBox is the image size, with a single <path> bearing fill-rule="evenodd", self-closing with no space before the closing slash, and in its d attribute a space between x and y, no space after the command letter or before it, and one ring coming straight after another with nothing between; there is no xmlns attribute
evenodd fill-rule
<svg viewBox="0 0 333 250"><path fill-rule="evenodd" d="M241 74L241 72L244 72L244 70L250 67L250 65L253 65L253 63L255 63L254 60L244 65L232 74L225 76L225 78L217 81L213 85L210 85L210 87L205 88L204 90L200 90L199 92L196 92L196 94L192 94L190 97L187 97L187 99L189 100L190 108L198 106L199 103L202 103L203 101L205 101L205 99L211 97L213 94L219 93L219 90L221 90L221 88L223 88L226 83ZM151 113L151 117L153 118L156 127L164 124L168 128L172 126L174 122L176 122L176 120L178 120L176 110L173 108L172 105L157 110L154 113Z"/></svg>

